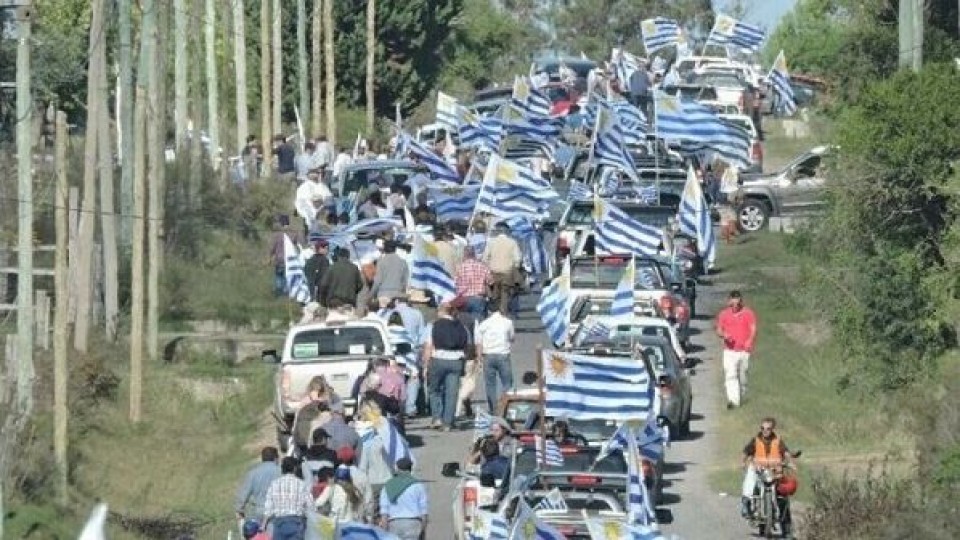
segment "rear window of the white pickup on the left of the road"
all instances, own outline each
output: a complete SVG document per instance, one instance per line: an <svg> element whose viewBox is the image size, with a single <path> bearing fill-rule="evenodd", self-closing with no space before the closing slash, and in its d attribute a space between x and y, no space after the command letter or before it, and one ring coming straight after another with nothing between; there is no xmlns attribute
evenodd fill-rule
<svg viewBox="0 0 960 540"><path fill-rule="evenodd" d="M298 332L291 358L316 360L324 356L384 354L383 334L373 326L334 326Z"/></svg>

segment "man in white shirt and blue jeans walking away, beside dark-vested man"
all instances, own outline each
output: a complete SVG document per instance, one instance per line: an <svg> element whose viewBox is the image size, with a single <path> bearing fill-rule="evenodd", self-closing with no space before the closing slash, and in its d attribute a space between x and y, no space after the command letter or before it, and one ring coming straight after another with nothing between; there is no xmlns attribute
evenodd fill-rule
<svg viewBox="0 0 960 540"><path fill-rule="evenodd" d="M510 347L515 337L513 321L503 316L499 306L493 305L490 307L490 316L478 324L474 332L477 361L483 366L487 406L493 412L497 410L500 396L513 388L513 364L510 362Z"/></svg>

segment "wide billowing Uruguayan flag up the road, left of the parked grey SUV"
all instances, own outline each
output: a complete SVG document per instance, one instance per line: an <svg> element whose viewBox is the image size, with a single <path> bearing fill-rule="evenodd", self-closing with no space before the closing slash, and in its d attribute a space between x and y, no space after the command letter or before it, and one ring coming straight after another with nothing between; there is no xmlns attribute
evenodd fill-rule
<svg viewBox="0 0 960 540"><path fill-rule="evenodd" d="M681 141L687 153L712 150L741 169L750 166L747 130L724 121L706 105L657 92L654 109L658 138Z"/></svg>

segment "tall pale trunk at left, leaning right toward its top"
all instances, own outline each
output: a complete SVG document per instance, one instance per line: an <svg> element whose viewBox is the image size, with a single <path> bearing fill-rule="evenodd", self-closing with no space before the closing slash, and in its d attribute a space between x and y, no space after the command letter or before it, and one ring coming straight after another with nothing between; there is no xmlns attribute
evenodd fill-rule
<svg viewBox="0 0 960 540"><path fill-rule="evenodd" d="M97 122L105 106L100 85L106 60L106 33L103 24L104 0L93 0L90 15L90 68L87 72L87 132L84 137L83 203L80 216L77 257L77 320L73 347L87 352L90 338L90 309L93 300L93 233L97 212Z"/></svg>

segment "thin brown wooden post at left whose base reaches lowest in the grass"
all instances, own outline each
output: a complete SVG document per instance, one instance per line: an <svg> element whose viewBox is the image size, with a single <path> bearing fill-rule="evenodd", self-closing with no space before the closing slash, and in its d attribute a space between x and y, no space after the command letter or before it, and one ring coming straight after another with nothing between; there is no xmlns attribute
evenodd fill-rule
<svg viewBox="0 0 960 540"><path fill-rule="evenodd" d="M132 122L131 122L132 124ZM131 137L133 133L127 132ZM133 140L130 141L131 143ZM133 145L131 144L132 148ZM54 191L54 228L56 255L54 257L53 295L57 302L53 314L53 455L57 464L60 503L67 500L67 114L57 111L54 164L57 184ZM133 156L128 156L133 159ZM131 188L133 186L131 185ZM131 192L131 195L133 193Z"/></svg>

